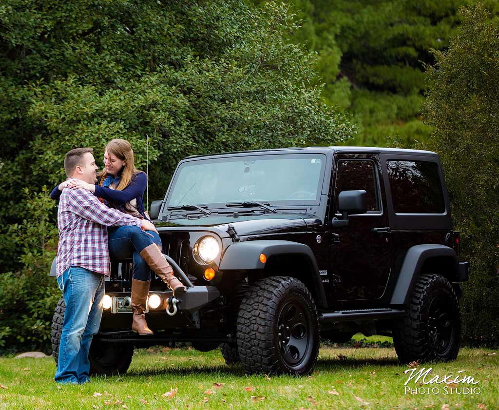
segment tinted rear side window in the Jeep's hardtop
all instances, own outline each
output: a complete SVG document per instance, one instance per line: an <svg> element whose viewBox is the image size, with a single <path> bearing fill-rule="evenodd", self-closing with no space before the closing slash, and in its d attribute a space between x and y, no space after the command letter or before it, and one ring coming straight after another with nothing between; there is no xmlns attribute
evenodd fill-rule
<svg viewBox="0 0 499 410"><path fill-rule="evenodd" d="M442 183L436 162L386 161L393 209L397 214L445 212Z"/></svg>

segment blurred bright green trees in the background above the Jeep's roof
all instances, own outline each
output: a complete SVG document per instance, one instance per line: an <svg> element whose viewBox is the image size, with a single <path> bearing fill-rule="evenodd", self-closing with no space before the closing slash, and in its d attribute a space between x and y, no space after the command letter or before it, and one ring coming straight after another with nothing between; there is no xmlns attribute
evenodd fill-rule
<svg viewBox="0 0 499 410"><path fill-rule="evenodd" d="M430 48L444 50L459 26L458 9L474 0L294 0L304 20L293 38L318 53L324 100L353 114L354 145L414 147L421 123ZM497 1L487 1L494 13Z"/></svg>

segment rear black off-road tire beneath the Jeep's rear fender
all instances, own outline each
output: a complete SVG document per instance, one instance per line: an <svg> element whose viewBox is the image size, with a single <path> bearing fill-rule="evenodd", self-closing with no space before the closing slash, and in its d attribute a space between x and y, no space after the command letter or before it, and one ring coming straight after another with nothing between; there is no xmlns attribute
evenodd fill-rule
<svg viewBox="0 0 499 410"><path fill-rule="evenodd" d="M393 329L399 361L455 360L460 338L461 313L451 283L441 275L421 275L409 309Z"/></svg>

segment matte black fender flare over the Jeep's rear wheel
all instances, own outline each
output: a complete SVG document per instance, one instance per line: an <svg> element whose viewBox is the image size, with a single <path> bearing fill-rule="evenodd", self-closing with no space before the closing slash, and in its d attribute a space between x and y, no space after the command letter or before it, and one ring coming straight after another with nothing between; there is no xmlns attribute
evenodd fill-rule
<svg viewBox="0 0 499 410"><path fill-rule="evenodd" d="M408 249L400 273L393 290L391 304L402 305L410 301L414 285L421 274L426 261L435 258L435 261L445 263L445 272L436 272L445 276L450 282L464 282L468 280L468 262L459 262L454 249L445 245L425 244L415 245Z"/></svg>

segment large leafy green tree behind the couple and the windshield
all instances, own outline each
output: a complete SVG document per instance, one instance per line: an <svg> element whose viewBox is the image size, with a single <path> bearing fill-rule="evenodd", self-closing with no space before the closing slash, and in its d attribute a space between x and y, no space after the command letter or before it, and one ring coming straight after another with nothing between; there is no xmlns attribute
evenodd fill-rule
<svg viewBox="0 0 499 410"><path fill-rule="evenodd" d="M41 229L26 213L36 205L22 188L37 192L62 180L69 149L91 146L100 163L107 141L128 139L139 168L149 157L153 200L187 155L335 144L352 134L348 119L321 100L314 56L288 39L296 29L274 3L2 2L0 266L20 270L0 282L3 343L33 335L34 345L46 346L52 308L32 305L27 294L56 289L50 258L19 259L24 248L11 238L23 218L22 238ZM33 333L37 317L43 336Z"/></svg>

